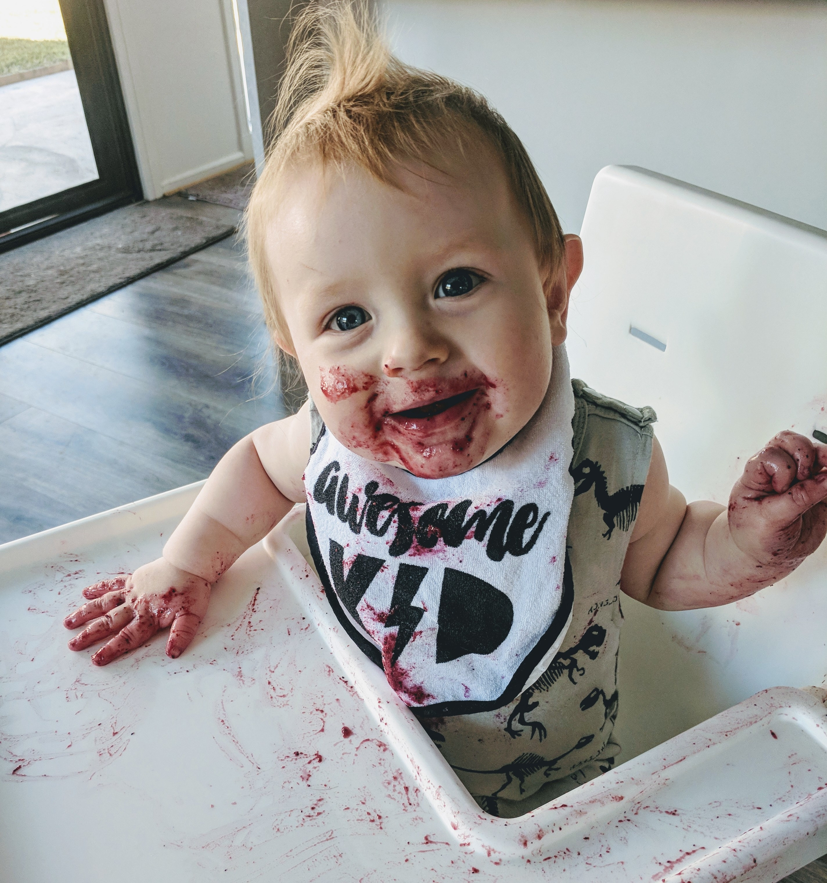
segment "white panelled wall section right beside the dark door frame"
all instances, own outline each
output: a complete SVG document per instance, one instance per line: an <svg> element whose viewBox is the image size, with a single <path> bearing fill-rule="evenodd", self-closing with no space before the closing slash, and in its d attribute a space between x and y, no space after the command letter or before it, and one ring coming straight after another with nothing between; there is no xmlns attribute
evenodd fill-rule
<svg viewBox="0 0 827 883"><path fill-rule="evenodd" d="M106 0L144 195L252 159L231 0Z"/></svg>

